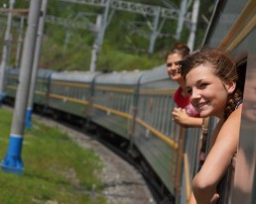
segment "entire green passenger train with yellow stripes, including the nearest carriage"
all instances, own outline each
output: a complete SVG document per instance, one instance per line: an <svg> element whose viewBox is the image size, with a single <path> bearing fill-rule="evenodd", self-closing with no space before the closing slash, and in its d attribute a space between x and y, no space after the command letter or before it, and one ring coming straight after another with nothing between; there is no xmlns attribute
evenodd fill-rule
<svg viewBox="0 0 256 204"><path fill-rule="evenodd" d="M230 51L244 86L239 147L220 191L222 204L256 203L255 25L256 1L218 0L202 44ZM8 71L7 99L15 97L18 72ZM176 88L165 65L112 73L40 70L34 103L54 110L55 116L78 118L85 127L96 124L122 138L127 153L137 150L150 166L152 181L169 198L165 203L185 204L198 169L200 129L184 129L172 121ZM210 118L208 136L214 125Z"/></svg>

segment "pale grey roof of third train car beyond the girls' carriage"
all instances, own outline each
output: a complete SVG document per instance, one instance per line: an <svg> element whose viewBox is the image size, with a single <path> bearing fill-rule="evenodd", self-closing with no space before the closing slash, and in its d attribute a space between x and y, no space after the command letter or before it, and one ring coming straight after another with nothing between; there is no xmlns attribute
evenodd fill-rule
<svg viewBox="0 0 256 204"><path fill-rule="evenodd" d="M76 81L76 82L91 82L96 75L100 72L90 72L90 71L61 71L55 72L52 75L53 80L60 81Z"/></svg>

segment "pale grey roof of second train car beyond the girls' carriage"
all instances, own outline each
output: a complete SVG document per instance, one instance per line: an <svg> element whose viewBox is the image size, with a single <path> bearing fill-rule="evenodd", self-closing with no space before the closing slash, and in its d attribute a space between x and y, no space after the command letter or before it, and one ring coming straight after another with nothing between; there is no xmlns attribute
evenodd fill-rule
<svg viewBox="0 0 256 204"><path fill-rule="evenodd" d="M138 84L141 75L145 71L134 70L134 71L120 71L120 72L111 72L104 73L96 77L96 84L128 84L134 85Z"/></svg>

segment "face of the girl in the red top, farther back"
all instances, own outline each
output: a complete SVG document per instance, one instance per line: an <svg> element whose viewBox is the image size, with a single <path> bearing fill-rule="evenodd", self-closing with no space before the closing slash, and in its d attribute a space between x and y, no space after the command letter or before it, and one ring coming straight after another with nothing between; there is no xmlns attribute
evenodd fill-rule
<svg viewBox="0 0 256 204"><path fill-rule="evenodd" d="M179 53L171 53L167 57L167 72L170 78L179 81L182 79L181 73L179 73L178 62L183 59L183 56Z"/></svg>

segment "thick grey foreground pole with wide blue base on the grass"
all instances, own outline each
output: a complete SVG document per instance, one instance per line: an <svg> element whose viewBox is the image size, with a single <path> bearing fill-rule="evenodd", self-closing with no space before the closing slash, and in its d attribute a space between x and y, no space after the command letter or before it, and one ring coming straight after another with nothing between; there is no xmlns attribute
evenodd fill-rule
<svg viewBox="0 0 256 204"><path fill-rule="evenodd" d="M23 161L21 158L21 152L41 3L42 0L30 1L28 27L22 54L21 71L16 93L15 107L13 111L13 121L9 146L8 151L1 163L2 169L4 171L18 174L23 173Z"/></svg>

